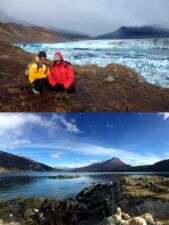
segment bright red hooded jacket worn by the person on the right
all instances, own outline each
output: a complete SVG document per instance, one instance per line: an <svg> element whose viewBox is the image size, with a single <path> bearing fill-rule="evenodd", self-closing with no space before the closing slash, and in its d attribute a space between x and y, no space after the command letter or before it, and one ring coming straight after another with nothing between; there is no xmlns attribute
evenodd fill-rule
<svg viewBox="0 0 169 225"><path fill-rule="evenodd" d="M62 62L59 65L53 62L51 71L48 74L48 81L53 87L57 84L61 84L65 89L68 89L75 82L73 68L71 64L64 61L60 52L56 52L55 56L56 55L62 59Z"/></svg>

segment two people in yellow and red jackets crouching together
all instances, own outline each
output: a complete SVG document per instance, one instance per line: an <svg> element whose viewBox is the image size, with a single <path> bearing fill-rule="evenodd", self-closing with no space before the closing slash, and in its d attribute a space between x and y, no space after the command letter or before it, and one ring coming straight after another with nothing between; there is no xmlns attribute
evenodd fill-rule
<svg viewBox="0 0 169 225"><path fill-rule="evenodd" d="M75 93L75 76L72 65L65 61L61 52L56 52L52 65L47 61L45 52L39 52L28 69L28 79L32 91L40 95L43 88L55 90L57 95L65 91L66 97Z"/></svg>

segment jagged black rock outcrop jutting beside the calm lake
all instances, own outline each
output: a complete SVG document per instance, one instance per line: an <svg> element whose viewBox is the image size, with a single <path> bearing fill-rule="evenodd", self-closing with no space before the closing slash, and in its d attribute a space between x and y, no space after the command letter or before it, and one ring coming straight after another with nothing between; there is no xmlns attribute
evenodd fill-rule
<svg viewBox="0 0 169 225"><path fill-rule="evenodd" d="M116 194L122 183L93 185L84 189L75 199L64 202L42 203L40 211L35 215L33 224L54 225L89 225L98 224L116 210Z"/></svg>

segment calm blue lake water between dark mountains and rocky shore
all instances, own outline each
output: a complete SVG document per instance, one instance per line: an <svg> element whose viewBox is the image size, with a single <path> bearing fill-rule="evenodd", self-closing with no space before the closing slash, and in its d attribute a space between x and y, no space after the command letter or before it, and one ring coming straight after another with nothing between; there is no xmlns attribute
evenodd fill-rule
<svg viewBox="0 0 169 225"><path fill-rule="evenodd" d="M166 174L153 174L169 177ZM80 175L75 179L52 179L57 175ZM144 176L143 173L56 173L28 172L0 174L0 201L20 197L49 197L65 199L76 196L83 188L94 183L114 181L123 176Z"/></svg>

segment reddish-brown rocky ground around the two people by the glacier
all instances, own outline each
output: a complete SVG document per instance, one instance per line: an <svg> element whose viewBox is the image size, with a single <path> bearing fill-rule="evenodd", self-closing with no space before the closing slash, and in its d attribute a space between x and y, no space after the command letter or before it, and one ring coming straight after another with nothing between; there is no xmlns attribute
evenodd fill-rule
<svg viewBox="0 0 169 225"><path fill-rule="evenodd" d="M56 98L52 91L34 96L24 71L33 56L0 41L1 112L156 112L169 111L169 89L150 85L117 64L74 66L77 93Z"/></svg>

